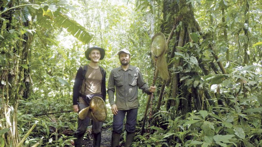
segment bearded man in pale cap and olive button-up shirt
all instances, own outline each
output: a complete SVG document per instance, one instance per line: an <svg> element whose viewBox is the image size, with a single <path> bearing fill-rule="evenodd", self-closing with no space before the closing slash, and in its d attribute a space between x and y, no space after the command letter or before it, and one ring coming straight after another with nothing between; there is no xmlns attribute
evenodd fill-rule
<svg viewBox="0 0 262 147"><path fill-rule="evenodd" d="M108 80L108 99L113 116L112 147L119 146L123 121L126 116L127 132L125 146L130 147L135 137L135 126L138 112L138 88L146 94L155 92L155 86L149 87L143 80L138 67L129 64L130 52L122 49L118 52L121 66L112 69ZM116 100L114 93L116 91Z"/></svg>

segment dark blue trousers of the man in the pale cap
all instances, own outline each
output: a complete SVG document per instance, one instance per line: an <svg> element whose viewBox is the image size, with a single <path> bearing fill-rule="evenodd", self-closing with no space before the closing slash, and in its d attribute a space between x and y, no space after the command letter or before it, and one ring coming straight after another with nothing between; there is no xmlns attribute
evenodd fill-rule
<svg viewBox="0 0 262 147"><path fill-rule="evenodd" d="M125 129L127 132L135 132L136 117L138 108L130 110L118 110L113 116L113 133L120 134L123 130L124 118L127 113Z"/></svg>

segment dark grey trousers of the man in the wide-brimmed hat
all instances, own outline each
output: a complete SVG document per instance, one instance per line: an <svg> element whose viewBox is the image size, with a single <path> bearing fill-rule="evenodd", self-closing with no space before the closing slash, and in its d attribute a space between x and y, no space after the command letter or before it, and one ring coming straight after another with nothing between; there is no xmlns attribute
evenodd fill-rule
<svg viewBox="0 0 262 147"><path fill-rule="evenodd" d="M95 96L102 97L101 94L92 94L90 96L91 96L91 98L95 97ZM79 106L79 111L80 111L84 108L87 108L89 105L78 103L78 106ZM75 147L81 147L82 146L85 131L86 131L86 128L88 127L89 122L90 122L90 118L88 116L85 119L80 119L78 117L78 127L77 127L75 134L74 134L74 137L77 138L75 140ZM94 135L100 133L102 126L103 126L103 122L92 121L92 133Z"/></svg>

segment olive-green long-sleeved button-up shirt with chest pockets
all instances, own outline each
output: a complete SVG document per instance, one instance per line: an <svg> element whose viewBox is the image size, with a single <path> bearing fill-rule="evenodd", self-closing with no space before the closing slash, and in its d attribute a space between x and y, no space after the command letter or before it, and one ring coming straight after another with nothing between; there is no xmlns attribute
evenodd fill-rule
<svg viewBox="0 0 262 147"><path fill-rule="evenodd" d="M118 110L138 108L138 88L146 94L151 94L138 67L129 65L126 71L121 66L112 69L107 88L110 105L116 104ZM115 91L116 101L114 99Z"/></svg>

